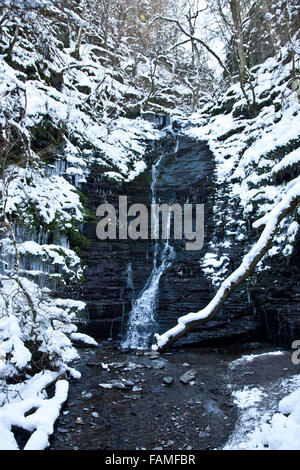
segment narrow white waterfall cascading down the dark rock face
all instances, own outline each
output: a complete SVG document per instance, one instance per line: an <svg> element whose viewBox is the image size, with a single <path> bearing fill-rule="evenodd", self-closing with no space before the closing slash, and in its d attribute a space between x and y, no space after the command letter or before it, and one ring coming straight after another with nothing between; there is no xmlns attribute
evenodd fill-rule
<svg viewBox="0 0 300 470"><path fill-rule="evenodd" d="M159 165L162 158L163 156L161 156L157 163L152 167L152 204L156 204L157 202L156 185ZM168 220L169 228L170 219L171 213L169 213ZM162 250L160 250L160 243L158 240L159 217L157 217L156 214L153 217L152 223L154 225L154 231L157 234L154 247L153 268L140 296L138 299L134 300L132 309L129 313L126 338L121 344L125 349L147 349L147 347L149 347L149 341L156 327L155 316L159 282L166 269L170 267L175 255L175 251L173 247L170 246L169 240L165 242Z"/></svg>

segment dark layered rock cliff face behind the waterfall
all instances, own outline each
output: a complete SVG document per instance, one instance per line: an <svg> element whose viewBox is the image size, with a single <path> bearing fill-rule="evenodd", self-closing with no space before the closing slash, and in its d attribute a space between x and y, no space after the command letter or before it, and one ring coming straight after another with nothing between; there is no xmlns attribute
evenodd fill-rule
<svg viewBox="0 0 300 470"><path fill-rule="evenodd" d="M160 203L205 205L205 244L201 251L186 251L184 241L171 240L175 259L160 281L157 296L156 330L163 332L177 319L203 308L215 288L201 267L216 236L213 205L216 198L214 156L204 142L197 142L180 129L166 132L147 152L147 161L155 163L164 154L159 167L157 194ZM97 171L91 173L83 191L95 210L104 199L118 206L118 196L127 195L128 204L148 207L151 174L146 171L129 185L108 184ZM101 195L101 196L100 196ZM98 338L122 339L125 336L132 304L143 291L153 266L153 241L100 241L96 225L88 224L84 233L91 249L84 253L86 282L80 298L87 303L84 331ZM218 344L262 337L260 321L253 314L245 289L237 292L214 322L193 332L185 344Z"/></svg>

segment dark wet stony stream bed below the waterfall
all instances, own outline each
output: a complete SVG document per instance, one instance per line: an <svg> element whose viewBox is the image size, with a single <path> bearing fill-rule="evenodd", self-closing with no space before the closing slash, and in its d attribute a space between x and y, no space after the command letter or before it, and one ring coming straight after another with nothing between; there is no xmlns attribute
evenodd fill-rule
<svg viewBox="0 0 300 470"><path fill-rule="evenodd" d="M289 379L299 366L291 355L259 343L162 355L123 352L110 342L82 349L76 364L82 378L70 386L50 449L238 448L239 438L247 439L292 391Z"/></svg>

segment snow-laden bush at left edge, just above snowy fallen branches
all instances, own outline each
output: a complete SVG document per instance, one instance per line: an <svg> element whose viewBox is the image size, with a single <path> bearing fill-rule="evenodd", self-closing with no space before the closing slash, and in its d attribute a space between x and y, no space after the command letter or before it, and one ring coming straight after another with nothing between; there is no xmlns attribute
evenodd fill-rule
<svg viewBox="0 0 300 470"><path fill-rule="evenodd" d="M69 335L77 328L83 302L53 299L26 278L1 276L0 376L18 376L51 364L59 368L77 358ZM30 301L28 301L28 296Z"/></svg>

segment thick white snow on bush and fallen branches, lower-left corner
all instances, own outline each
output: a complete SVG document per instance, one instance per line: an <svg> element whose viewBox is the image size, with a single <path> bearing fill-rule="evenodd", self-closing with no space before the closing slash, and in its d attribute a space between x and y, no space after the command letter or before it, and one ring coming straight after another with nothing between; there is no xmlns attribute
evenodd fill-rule
<svg viewBox="0 0 300 470"><path fill-rule="evenodd" d="M83 302L53 299L47 296L49 289L41 292L36 284L26 278L19 278L19 282L22 289L16 281L1 277L0 449L18 449L11 431L12 426L18 426L32 433L25 450L42 450L49 445L54 423L68 396L69 384L62 377L70 375L79 379L81 376L68 366L78 358L72 340L78 339L90 345L96 342L87 335L77 333L77 327L72 323L76 318L75 312L85 308ZM36 308L36 318L24 292ZM56 371L45 369L25 381L8 386L7 378L17 378L24 369L30 372L32 354L28 343L32 340L39 345L41 353L49 356ZM45 388L52 383L55 383L55 394L48 398ZM35 411L25 416L32 409Z"/></svg>

